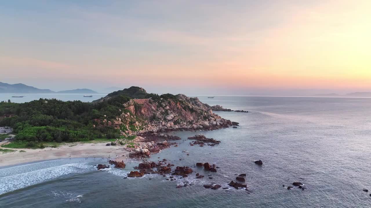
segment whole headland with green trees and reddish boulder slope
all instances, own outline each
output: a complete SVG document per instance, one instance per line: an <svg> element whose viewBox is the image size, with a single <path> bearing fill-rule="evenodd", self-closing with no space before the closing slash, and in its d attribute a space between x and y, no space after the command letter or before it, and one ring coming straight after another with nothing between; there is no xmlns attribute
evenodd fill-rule
<svg viewBox="0 0 371 208"><path fill-rule="evenodd" d="M133 99L136 98L136 99ZM233 124L211 106L183 94L149 94L143 88L115 91L92 103L34 100L0 103L0 126L13 128L18 141L74 142L146 132L213 130Z"/></svg>

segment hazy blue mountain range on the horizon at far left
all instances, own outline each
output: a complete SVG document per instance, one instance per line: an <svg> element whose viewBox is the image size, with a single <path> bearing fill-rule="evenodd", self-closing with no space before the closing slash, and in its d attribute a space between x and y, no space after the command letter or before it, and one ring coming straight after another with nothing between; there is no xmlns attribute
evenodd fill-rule
<svg viewBox="0 0 371 208"><path fill-rule="evenodd" d="M52 91L47 89L39 89L25 84L7 84L0 82L0 93L81 93L81 94L95 94L96 91L89 89L76 89L64 91Z"/></svg>

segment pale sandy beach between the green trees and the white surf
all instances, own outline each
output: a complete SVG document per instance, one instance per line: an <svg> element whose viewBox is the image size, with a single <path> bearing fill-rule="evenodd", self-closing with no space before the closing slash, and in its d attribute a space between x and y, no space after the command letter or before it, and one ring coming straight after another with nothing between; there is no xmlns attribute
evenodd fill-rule
<svg viewBox="0 0 371 208"><path fill-rule="evenodd" d="M15 152L10 152L6 154L0 154L0 167L8 165L22 164L25 162L35 162L41 160L54 160L60 158L69 158L69 157L105 157L108 155L113 159L116 158L116 155L119 156L117 161L126 160L126 156L120 157L121 155L128 154L127 151L120 145L118 146L106 146L107 142L104 143L68 143L62 145L58 148L44 148L44 149L12 149L16 150ZM20 150L26 152L19 152Z"/></svg>

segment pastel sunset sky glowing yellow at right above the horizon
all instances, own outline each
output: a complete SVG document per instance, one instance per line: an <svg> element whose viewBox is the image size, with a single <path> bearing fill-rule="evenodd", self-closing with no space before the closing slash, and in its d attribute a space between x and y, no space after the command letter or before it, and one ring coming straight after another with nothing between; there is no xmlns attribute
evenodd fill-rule
<svg viewBox="0 0 371 208"><path fill-rule="evenodd" d="M371 91L370 0L2 1L1 82L155 93Z"/></svg>

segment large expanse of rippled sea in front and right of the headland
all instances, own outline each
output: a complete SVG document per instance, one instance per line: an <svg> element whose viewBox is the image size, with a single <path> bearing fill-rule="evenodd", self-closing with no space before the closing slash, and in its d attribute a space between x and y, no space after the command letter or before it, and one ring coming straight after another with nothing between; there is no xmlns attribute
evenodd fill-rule
<svg viewBox="0 0 371 208"><path fill-rule="evenodd" d="M201 131L219 145L190 146L187 137L195 132L175 132L183 139L179 147L152 155L152 161L166 158L192 167L187 178L124 179L137 162L128 162L124 170L96 171L93 165L106 161L93 158L0 167L0 207L371 207L370 192L362 191L371 191L370 98L198 97L249 113L218 112L240 123L239 128ZM220 168L206 172L193 167L196 162ZM196 179L197 172L205 178ZM234 174L242 173L249 191L203 187L211 182L229 187ZM286 188L296 181L306 189ZM194 185L175 188L184 183Z"/></svg>

